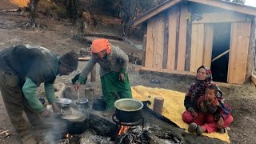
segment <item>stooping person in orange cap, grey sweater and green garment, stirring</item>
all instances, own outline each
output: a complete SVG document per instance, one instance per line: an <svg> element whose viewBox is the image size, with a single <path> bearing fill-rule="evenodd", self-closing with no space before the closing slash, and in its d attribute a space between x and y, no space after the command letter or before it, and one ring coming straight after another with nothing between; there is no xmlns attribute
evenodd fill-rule
<svg viewBox="0 0 256 144"><path fill-rule="evenodd" d="M115 92L120 98L132 98L130 82L126 73L128 56L117 46L111 46L107 39L95 39L91 45L92 56L85 69L78 78L77 88L90 74L94 65L100 65L103 99L106 102L106 111L103 116L108 116L114 110Z"/></svg>

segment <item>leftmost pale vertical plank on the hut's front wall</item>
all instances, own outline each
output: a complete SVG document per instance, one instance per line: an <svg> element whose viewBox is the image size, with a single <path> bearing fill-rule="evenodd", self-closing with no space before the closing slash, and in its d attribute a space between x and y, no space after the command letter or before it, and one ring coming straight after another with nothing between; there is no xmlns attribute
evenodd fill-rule
<svg viewBox="0 0 256 144"><path fill-rule="evenodd" d="M154 50L154 18L147 22L145 67L152 68Z"/></svg>

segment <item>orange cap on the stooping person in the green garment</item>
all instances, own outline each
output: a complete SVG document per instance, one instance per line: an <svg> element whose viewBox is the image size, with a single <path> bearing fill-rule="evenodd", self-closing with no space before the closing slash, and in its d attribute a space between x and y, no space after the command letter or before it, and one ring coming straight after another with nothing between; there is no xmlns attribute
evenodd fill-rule
<svg viewBox="0 0 256 144"><path fill-rule="evenodd" d="M110 51L111 51L110 42L105 38L95 39L91 44L91 52L98 53L98 52L101 52L102 50L106 50L106 54L110 54Z"/></svg>

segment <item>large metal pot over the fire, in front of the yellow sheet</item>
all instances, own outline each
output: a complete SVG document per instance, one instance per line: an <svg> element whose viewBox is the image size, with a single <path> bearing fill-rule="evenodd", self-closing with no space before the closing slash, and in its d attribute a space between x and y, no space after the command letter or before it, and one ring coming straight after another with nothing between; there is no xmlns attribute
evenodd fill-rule
<svg viewBox="0 0 256 144"><path fill-rule="evenodd" d="M143 103L138 100L122 98L114 102L114 107L116 108L116 117L120 122L136 122L142 118Z"/></svg>

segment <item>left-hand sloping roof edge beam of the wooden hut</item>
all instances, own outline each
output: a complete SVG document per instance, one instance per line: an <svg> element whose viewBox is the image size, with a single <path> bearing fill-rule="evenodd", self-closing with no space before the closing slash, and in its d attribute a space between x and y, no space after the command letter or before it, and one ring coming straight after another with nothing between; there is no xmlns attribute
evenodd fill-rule
<svg viewBox="0 0 256 144"><path fill-rule="evenodd" d="M155 7L154 9L134 19L134 21L129 22L128 25L137 26L138 24L145 22L146 20L154 17L156 14L161 13L163 10L167 10L168 8L170 8L170 6L174 6L178 4L178 2L182 2L182 0L172 0L172 1L164 2L161 5Z"/></svg>

